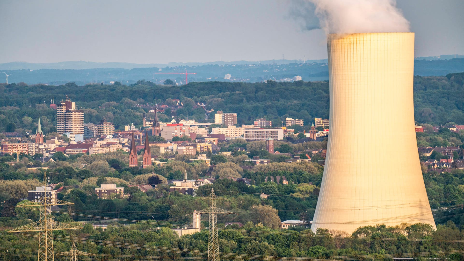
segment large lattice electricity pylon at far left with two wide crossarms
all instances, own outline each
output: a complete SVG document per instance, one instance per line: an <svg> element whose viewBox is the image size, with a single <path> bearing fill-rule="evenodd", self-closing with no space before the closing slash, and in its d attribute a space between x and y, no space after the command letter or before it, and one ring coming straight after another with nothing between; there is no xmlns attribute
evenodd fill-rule
<svg viewBox="0 0 464 261"><path fill-rule="evenodd" d="M52 197L52 193L47 189L47 176L44 172L44 192L40 192L40 197L32 201L24 202L17 205L16 207L28 207L34 209L40 209L39 221L32 222L19 228L14 228L9 233L13 232L32 232L39 231L39 256L38 261L53 261L53 230L62 229L76 229L82 228L73 226L67 223L56 222L52 219L51 206L57 205L73 205L74 203L58 200ZM47 193L48 192L48 193Z"/></svg>

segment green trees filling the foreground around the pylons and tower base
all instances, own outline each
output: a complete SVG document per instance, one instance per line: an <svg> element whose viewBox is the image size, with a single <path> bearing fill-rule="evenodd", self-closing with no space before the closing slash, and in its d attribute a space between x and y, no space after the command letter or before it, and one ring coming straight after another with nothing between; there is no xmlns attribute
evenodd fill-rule
<svg viewBox="0 0 464 261"><path fill-rule="evenodd" d="M243 156L213 160L217 166L227 163L233 165L243 163L246 158ZM202 217L204 229L200 233L179 237L170 229L191 226L192 211L205 209L205 200L178 193L169 194L162 186L147 193L128 187L129 184L148 183L152 175L181 176L182 168L187 168L189 178L194 178L190 175L202 175L201 168L198 169L195 163L170 161L163 167L139 170L127 167L127 157L127 153L122 152L76 155L49 164L50 182L59 183L57 187L78 186L58 193L59 199L73 202L74 205L54 210L54 219L84 227L55 231L55 253L69 250L72 242L76 242L79 250L98 254L94 259L84 257L84 260L206 258L206 228L209 227L206 215ZM11 160L9 156L1 158ZM74 167L81 166L83 162L88 163L84 169ZM37 209L14 206L28 189L40 184L43 174L24 170L21 163L16 165L9 167L0 163L5 174L4 180L0 181L1 196L7 199L1 205L0 257L4 260L32 261L37 258L37 234L10 234L6 231L39 218ZM464 213L461 204L464 200L463 170L439 176L424 173L429 200L435 209L433 213L438 224L437 230L421 223L405 223L395 227L379 224L358 228L352 235L322 228L316 233L304 227L279 229L280 221L312 219L322 177L322 168L316 163L271 163L245 170L240 176L256 181L256 185L251 186L242 180L220 178L221 171L215 171L219 179L213 185L200 187L198 196L208 195L213 188L216 194L227 199L218 202L218 207L234 213L218 216L222 260L275 260L277 257L292 260L389 260L392 257L419 257L420 260L421 256L425 256L460 261L464 258ZM265 176L277 175L286 175L290 181L298 184L263 182ZM130 195L125 198L113 196L107 200L97 199L92 191L101 183L116 183L125 187L126 194ZM260 198L261 192L270 196L267 199ZM114 218L116 222L109 221ZM108 224L108 228L104 231L102 228L94 229L90 223L85 224L87 222ZM244 226L225 228L226 222L241 222ZM60 259L57 257L57 260Z"/></svg>

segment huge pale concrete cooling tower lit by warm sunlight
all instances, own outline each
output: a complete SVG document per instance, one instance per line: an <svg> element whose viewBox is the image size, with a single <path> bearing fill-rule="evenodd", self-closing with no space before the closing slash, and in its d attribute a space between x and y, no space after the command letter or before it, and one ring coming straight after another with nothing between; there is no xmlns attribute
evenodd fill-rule
<svg viewBox="0 0 464 261"><path fill-rule="evenodd" d="M329 34L330 133L311 229L435 228L419 163L414 33Z"/></svg>

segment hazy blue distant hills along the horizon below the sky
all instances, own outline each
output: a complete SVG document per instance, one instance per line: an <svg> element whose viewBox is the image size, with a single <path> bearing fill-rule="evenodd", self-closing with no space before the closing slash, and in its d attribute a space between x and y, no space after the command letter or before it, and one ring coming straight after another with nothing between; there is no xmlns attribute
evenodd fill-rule
<svg viewBox="0 0 464 261"><path fill-rule="evenodd" d="M268 63L270 62L270 63ZM50 84L61 85L68 82L75 82L77 85L88 83L109 84L119 81L124 84L134 84L139 80L149 80L161 84L165 79L174 80L177 84L185 84L185 71L195 72L188 76L190 82L206 81L226 81L226 82L263 82L268 79L276 81L293 81L294 77L301 76L303 81L323 81L329 79L327 61L307 61L307 63L289 63L290 60L262 61L262 63L251 63L238 61L236 64L226 62L204 63L202 65L178 65L172 63L166 65L136 65L128 63L92 63L92 62L63 62L56 64L45 64L53 67L50 69L27 69L20 70L0 70L11 74L8 77L9 83L25 82L27 84ZM223 64L220 64L223 63ZM11 67L23 66L24 64L9 63ZM3 64L6 65L6 64ZM26 64L40 67L39 64ZM24 65L24 66L26 66ZM43 65L43 66L45 66ZM1 66L1 65L0 65ZM61 69L56 69L61 66ZM120 68L85 68L70 69L76 66L95 67L95 66L114 66ZM132 68L133 66L140 66ZM1 67L0 67L1 68ZM67 68L67 69L66 69ZM443 76L449 73L464 72L464 59L448 60L415 60L414 74L418 76ZM169 74L163 74L169 73ZM230 79L225 75L231 74ZM1 78L0 82L4 82Z"/></svg>

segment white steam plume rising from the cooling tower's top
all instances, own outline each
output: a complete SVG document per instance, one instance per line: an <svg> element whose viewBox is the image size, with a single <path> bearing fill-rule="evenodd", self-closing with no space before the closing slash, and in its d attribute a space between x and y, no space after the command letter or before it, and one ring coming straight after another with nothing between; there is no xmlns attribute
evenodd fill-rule
<svg viewBox="0 0 464 261"><path fill-rule="evenodd" d="M395 0L308 0L326 33L410 32Z"/></svg>

